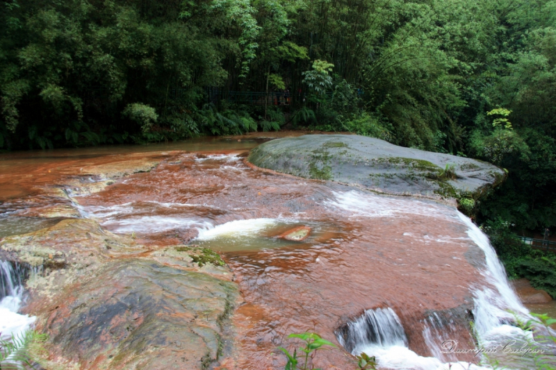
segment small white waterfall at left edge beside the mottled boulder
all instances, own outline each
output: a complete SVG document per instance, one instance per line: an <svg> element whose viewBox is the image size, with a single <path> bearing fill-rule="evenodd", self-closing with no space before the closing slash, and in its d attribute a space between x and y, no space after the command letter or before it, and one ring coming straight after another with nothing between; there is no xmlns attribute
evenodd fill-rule
<svg viewBox="0 0 556 370"><path fill-rule="evenodd" d="M28 277L28 271L22 264L0 261L1 339L22 335L35 322L35 317L17 313L22 306L23 282Z"/></svg>

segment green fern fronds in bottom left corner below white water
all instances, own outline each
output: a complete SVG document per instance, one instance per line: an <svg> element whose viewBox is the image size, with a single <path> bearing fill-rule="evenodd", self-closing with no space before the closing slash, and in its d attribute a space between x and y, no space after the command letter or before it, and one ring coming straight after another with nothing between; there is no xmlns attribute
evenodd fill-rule
<svg viewBox="0 0 556 370"><path fill-rule="evenodd" d="M39 334L35 330L27 330L22 335L12 336L10 340L0 339L0 368L34 369L30 353L42 353L42 344L47 339L46 334Z"/></svg>

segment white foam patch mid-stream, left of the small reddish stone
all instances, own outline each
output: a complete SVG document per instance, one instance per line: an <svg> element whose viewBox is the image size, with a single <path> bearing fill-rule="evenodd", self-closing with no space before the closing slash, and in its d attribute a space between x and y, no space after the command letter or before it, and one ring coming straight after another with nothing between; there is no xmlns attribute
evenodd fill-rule
<svg viewBox="0 0 556 370"><path fill-rule="evenodd" d="M240 219L226 224L198 228L199 240L211 240L218 237L252 237L261 233L265 228L275 226L277 219Z"/></svg>

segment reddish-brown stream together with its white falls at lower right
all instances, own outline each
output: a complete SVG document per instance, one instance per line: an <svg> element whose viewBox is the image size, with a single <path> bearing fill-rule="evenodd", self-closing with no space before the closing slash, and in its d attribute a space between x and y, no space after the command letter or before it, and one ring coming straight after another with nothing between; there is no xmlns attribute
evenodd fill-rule
<svg viewBox="0 0 556 370"><path fill-rule="evenodd" d="M477 368L469 364L479 359L471 320L492 346L517 335L507 310L527 310L486 236L455 208L262 171L240 154L256 143L228 144L213 153L158 148L152 155L162 162L149 173L68 194L80 217L152 249L191 243L222 253L244 300L233 316L229 369L283 369L277 346L304 331L392 369ZM63 183L80 155L52 155L42 171L59 167L58 177L44 175L42 183ZM35 195L26 194L5 194L4 213L29 207ZM284 237L302 226L311 230L306 239ZM447 342L466 351L446 351ZM354 368L347 352L322 351L315 364Z"/></svg>

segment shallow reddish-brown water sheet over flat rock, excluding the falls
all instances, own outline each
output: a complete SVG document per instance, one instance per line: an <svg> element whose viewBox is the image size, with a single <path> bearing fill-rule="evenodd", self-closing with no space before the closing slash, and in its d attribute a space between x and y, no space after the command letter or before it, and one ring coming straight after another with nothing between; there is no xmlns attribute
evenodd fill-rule
<svg viewBox="0 0 556 370"><path fill-rule="evenodd" d="M473 286L483 284L482 255L457 210L256 169L245 163L256 144L199 140L0 155L0 224L48 204L53 198L44 189L63 187L84 164L161 160L148 173L73 201L83 217L153 249L195 243L222 253L244 301L233 315L236 349L222 369L283 368L277 346L291 346L288 334L311 331L338 344L336 328L379 307L398 314L409 348L432 355L423 339L427 312L466 310ZM28 228L51 221L33 222ZM311 227L304 241L277 238L299 226ZM460 329L454 339L472 346L467 328ZM315 364L355 368L341 349L322 351Z"/></svg>

